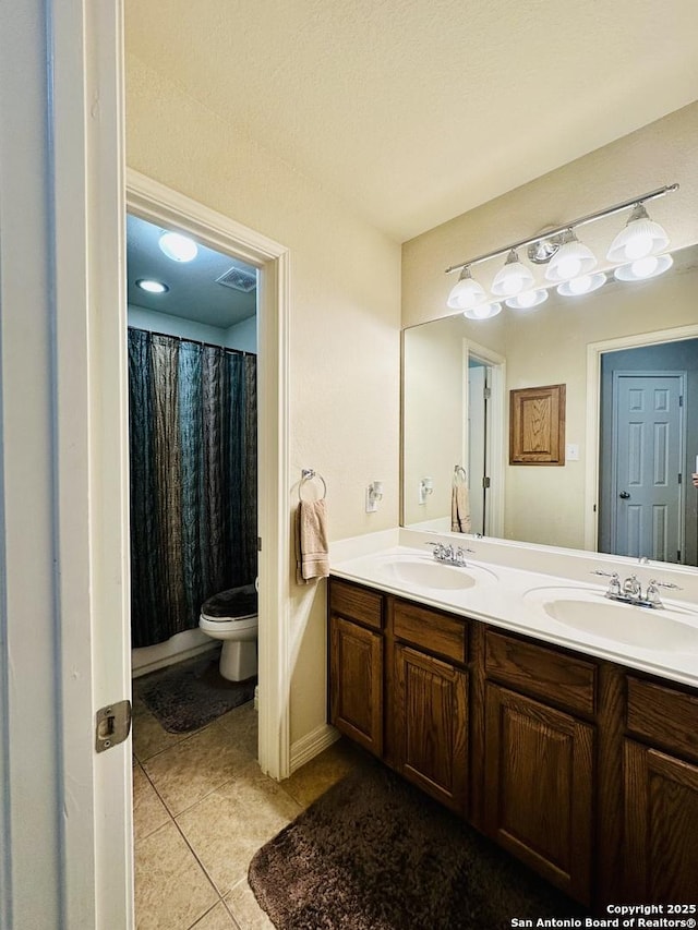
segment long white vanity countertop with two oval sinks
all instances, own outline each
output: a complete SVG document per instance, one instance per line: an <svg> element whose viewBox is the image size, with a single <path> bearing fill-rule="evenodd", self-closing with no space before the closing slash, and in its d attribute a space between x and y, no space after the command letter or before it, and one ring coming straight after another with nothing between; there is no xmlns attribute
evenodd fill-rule
<svg viewBox="0 0 698 930"><path fill-rule="evenodd" d="M526 558L522 558L520 549L516 549L517 544L513 544L513 553L507 556L507 546L503 546L501 541L489 543L471 538L440 535L438 540L447 544L474 549L466 554L465 568L452 568L452 572L464 572L466 582L472 580L474 583L471 587L455 587L458 581L454 577L454 587L435 587L429 578L429 566L435 560L424 546L425 542L435 540L433 534L400 530L375 534L373 539L363 542L361 540L357 538L333 546L333 576L698 687L698 603L693 600L696 585L693 576L698 572L695 569L688 573L685 569L671 571L666 566L650 565L636 571L636 561L617 560L592 553L577 554L577 563L569 561L575 554L570 556L564 553L565 558L558 558L553 551L538 553L537 558L535 553L531 556L530 547L527 547ZM521 569L505 564L507 560L538 563L543 570ZM400 570L402 564L409 564L405 572ZM561 568L564 573L556 573ZM622 579L637 573L643 590L650 577L671 580L683 590L662 591L665 609L628 607L603 596L607 585L603 583L605 579L591 575L594 568L619 570ZM410 573L426 578L426 584L406 578ZM437 583L441 584L441 579L437 579ZM444 583L452 583L452 575L448 572L444 575ZM597 617L601 619L601 629L599 624L595 624L595 631L591 632L559 623L545 607L546 602L555 599L567 599L575 604L580 601L583 604L583 612L580 613L589 616L595 609ZM612 608L609 605L613 605ZM628 611L633 613L628 614ZM642 626L637 628L638 641L631 642L635 639L635 624ZM605 627L607 635L604 632ZM642 635L645 628L647 636ZM615 639L614 630L616 636L624 636L628 641ZM652 648L640 645L642 640L654 644Z"/></svg>

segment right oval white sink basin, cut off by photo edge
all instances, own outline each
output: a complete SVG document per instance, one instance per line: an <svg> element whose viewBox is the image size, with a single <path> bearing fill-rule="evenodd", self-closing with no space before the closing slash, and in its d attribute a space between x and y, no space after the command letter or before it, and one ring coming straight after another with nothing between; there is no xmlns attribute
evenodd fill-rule
<svg viewBox="0 0 698 930"><path fill-rule="evenodd" d="M525 600L558 624L601 639L660 652L698 653L698 615L681 607L635 607L586 588L534 588Z"/></svg>

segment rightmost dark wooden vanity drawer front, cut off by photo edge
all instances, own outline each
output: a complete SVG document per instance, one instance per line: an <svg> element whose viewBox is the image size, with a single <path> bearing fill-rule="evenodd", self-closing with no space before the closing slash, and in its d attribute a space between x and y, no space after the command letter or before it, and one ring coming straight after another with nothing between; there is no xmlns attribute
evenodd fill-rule
<svg viewBox="0 0 698 930"><path fill-rule="evenodd" d="M698 696L628 676L628 729L698 759Z"/></svg>

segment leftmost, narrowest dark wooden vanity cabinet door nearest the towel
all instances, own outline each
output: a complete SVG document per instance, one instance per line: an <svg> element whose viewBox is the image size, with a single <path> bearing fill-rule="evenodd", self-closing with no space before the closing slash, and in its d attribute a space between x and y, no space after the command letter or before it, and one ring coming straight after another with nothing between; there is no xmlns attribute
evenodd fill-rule
<svg viewBox="0 0 698 930"><path fill-rule="evenodd" d="M330 722L375 756L383 752L383 637L330 620Z"/></svg>

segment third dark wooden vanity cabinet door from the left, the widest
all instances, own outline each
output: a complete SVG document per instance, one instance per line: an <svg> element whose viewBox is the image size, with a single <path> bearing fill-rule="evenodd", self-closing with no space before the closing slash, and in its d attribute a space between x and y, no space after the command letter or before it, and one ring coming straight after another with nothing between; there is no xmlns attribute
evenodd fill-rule
<svg viewBox="0 0 698 930"><path fill-rule="evenodd" d="M594 728L492 684L485 713L485 831L588 904Z"/></svg>

